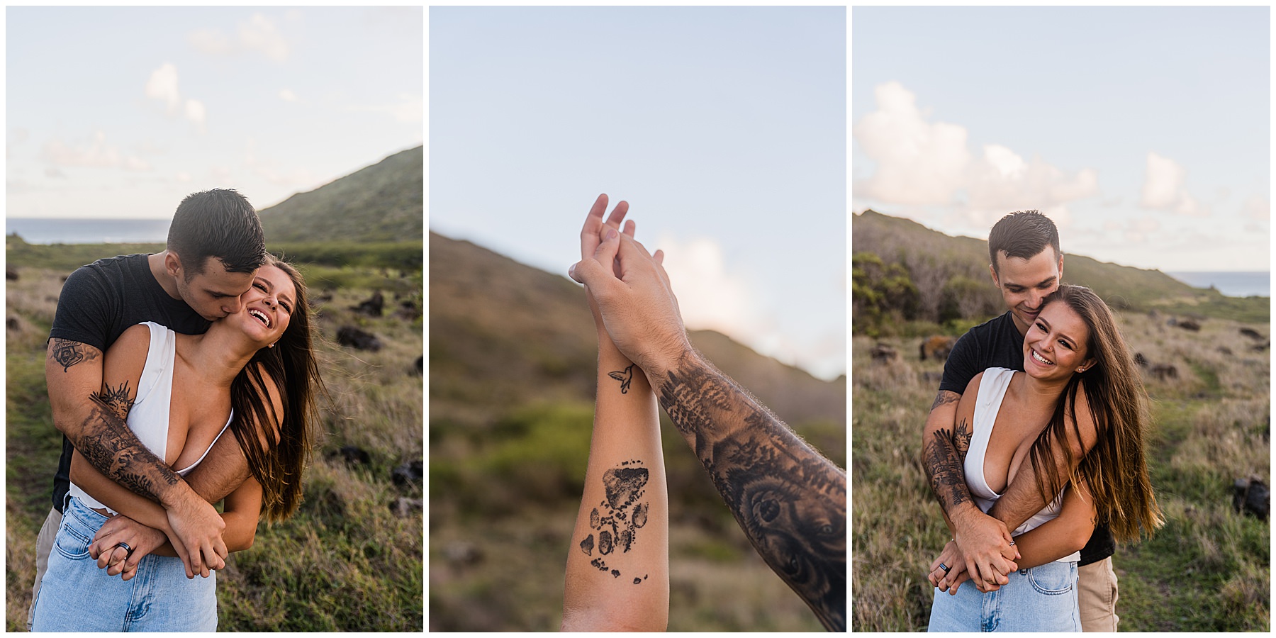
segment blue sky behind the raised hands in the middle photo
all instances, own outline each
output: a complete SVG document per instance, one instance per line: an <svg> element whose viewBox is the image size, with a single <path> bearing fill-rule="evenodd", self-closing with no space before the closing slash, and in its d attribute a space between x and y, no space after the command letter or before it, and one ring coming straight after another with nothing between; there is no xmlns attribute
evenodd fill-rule
<svg viewBox="0 0 1276 638"><path fill-rule="evenodd" d="M846 371L846 10L431 8L429 225L565 276L600 193L689 328Z"/></svg>

